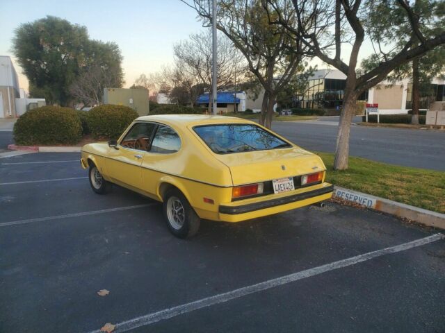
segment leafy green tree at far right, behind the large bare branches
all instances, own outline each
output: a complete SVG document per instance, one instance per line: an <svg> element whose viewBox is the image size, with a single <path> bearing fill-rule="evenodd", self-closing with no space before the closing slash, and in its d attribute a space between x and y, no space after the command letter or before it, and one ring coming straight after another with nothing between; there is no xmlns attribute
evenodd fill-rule
<svg viewBox="0 0 445 333"><path fill-rule="evenodd" d="M405 18L405 9L401 6L390 8L385 3L373 4L375 10L370 11L370 16L366 24L369 34L372 35L373 49L379 50L362 62L364 69L372 69L380 58L387 56L382 52L387 40L395 40L398 48L403 47L412 37L410 34L410 22ZM419 30L423 35L431 36L437 28L445 28L444 21L436 22L437 3L430 0L415 0L414 10L419 17L423 17ZM382 16L385 15L385 19ZM389 17L390 15L390 17ZM383 46L382 46L383 45ZM413 39L413 45L419 45L417 37ZM391 52L391 51L389 51ZM394 83L403 78L411 78L412 82L412 123L419 124L420 94L430 94L430 84L432 78L442 73L445 68L445 47L439 46L428 51L419 58L414 58L396 69L388 76L388 80Z"/></svg>

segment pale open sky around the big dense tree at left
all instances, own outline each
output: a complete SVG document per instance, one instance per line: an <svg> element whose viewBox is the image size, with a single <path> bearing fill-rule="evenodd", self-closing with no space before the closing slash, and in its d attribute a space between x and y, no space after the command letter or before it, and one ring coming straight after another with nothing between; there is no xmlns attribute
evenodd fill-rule
<svg viewBox="0 0 445 333"><path fill-rule="evenodd" d="M19 24L47 15L86 26L92 39L116 42L124 57L124 87L171 64L173 44L202 30L194 10L179 0L0 0L0 56L13 58L11 39ZM26 76L14 66L28 91Z"/></svg>

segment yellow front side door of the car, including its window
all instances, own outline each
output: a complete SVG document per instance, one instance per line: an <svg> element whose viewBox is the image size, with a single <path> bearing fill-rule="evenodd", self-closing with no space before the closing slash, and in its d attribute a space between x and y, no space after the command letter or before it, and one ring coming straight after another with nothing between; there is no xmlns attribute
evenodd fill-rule
<svg viewBox="0 0 445 333"><path fill-rule="evenodd" d="M108 176L120 185L140 191L142 187L141 167L145 153L149 150L155 123L135 123L119 142L110 148L106 159Z"/></svg>

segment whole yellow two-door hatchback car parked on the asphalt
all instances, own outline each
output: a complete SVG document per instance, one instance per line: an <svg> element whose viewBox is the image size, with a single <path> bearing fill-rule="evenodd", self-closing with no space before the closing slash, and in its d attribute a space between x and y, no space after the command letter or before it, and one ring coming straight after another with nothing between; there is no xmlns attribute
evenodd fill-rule
<svg viewBox="0 0 445 333"><path fill-rule="evenodd" d="M191 237L200 219L239 222L332 196L320 157L245 119L140 117L118 140L86 144L92 190L111 183L163 203L168 228Z"/></svg>

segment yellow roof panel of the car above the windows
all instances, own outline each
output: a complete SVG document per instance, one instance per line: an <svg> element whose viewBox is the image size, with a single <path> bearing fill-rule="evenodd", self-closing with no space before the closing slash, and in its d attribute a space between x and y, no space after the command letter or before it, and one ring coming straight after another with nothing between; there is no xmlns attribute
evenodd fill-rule
<svg viewBox="0 0 445 333"><path fill-rule="evenodd" d="M213 123L252 123L248 119L210 114L155 114L139 117L136 121L159 121L172 126L210 125Z"/></svg>

